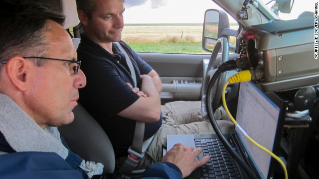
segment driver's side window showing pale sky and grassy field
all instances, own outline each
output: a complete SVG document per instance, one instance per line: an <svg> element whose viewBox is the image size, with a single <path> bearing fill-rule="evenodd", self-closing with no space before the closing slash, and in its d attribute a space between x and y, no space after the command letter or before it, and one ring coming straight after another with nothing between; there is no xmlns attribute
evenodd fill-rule
<svg viewBox="0 0 319 179"><path fill-rule="evenodd" d="M210 54L202 49L204 14L208 8L220 7L210 0L162 2L157 6L125 2L122 40L136 52ZM229 22L230 28L238 28L231 16ZM236 37L230 37L229 43L235 45Z"/></svg>

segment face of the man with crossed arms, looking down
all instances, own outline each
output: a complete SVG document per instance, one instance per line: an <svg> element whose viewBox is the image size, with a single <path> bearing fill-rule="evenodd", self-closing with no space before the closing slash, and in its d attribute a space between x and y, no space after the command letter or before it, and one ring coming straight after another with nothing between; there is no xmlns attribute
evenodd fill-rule
<svg viewBox="0 0 319 179"><path fill-rule="evenodd" d="M87 18L86 34L96 42L110 43L120 41L124 27L122 0L96 0L92 17Z"/></svg>

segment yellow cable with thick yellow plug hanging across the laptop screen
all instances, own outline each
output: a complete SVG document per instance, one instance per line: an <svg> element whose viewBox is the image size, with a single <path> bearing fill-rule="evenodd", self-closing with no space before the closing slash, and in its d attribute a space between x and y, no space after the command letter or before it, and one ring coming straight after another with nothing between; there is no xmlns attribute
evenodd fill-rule
<svg viewBox="0 0 319 179"><path fill-rule="evenodd" d="M251 75L250 75L250 72L248 70L241 71L241 72L233 75L232 77L230 77L223 87L223 92L222 92L223 106L224 106L228 116L230 117L230 120L235 124L235 127L237 127L238 130L243 132L245 137L251 143L253 143L255 146L257 146L258 148L260 148L261 150L265 151L267 154L272 156L274 159L276 159L280 163L280 165L282 166L282 168L284 170L285 179L288 179L288 173L287 173L287 169L286 169L284 162L279 157L277 157L274 153L272 153L271 151L269 151L268 149L266 149L265 147L263 147L262 145L258 144L256 141L254 141L251 137L249 137L248 134L244 131L243 128L241 128L241 126L236 122L236 120L234 119L234 117L231 115L231 113L228 110L228 107L226 104L226 99L225 99L225 92L226 92L226 88L227 88L228 84L229 83L232 84L232 83L248 82L250 80L251 80Z"/></svg>

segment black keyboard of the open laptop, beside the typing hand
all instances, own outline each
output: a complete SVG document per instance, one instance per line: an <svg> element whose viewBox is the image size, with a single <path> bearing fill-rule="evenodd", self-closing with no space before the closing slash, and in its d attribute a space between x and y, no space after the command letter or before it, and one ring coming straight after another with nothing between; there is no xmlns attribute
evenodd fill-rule
<svg viewBox="0 0 319 179"><path fill-rule="evenodd" d="M196 147L210 156L210 161L200 167L199 179L241 179L235 160L219 139L195 139Z"/></svg>

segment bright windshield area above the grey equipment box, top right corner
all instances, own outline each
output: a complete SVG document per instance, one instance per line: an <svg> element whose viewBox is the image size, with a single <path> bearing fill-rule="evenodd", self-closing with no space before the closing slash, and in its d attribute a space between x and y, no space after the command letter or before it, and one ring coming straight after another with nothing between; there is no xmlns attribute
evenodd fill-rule
<svg viewBox="0 0 319 179"><path fill-rule="evenodd" d="M282 20L297 19L299 15L314 15L315 1L313 0L256 0L266 4L269 11L274 12ZM292 8L290 8L292 6Z"/></svg>

